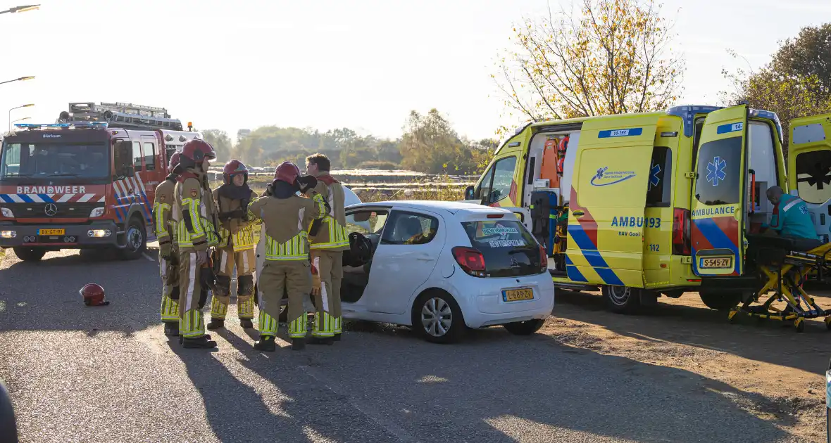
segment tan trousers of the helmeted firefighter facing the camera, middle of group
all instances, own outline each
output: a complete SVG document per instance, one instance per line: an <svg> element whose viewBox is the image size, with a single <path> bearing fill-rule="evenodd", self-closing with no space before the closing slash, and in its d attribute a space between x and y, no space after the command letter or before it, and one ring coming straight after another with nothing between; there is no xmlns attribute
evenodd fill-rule
<svg viewBox="0 0 831 443"><path fill-rule="evenodd" d="M234 252L234 246L217 248L214 256L216 266L216 289L211 299L211 319L225 319L231 303L231 276L237 270L237 316L239 319L254 318L254 265L256 255L252 249Z"/></svg>

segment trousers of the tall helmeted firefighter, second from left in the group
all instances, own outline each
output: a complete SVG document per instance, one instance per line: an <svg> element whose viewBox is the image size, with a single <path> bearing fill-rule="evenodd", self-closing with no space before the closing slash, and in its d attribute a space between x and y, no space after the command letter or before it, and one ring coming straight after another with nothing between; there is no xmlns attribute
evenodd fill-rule
<svg viewBox="0 0 831 443"><path fill-rule="evenodd" d="M199 338L205 334L201 304L207 296L202 290L201 267L196 264L196 252L179 252L179 333L184 338Z"/></svg>

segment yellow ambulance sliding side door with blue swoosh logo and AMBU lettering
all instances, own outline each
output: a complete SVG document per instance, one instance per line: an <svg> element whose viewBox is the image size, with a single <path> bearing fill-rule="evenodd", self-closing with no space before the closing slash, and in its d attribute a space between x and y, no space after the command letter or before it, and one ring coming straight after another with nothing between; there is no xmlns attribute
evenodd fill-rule
<svg viewBox="0 0 831 443"><path fill-rule="evenodd" d="M569 197L569 280L642 288L652 148L664 114L583 123Z"/></svg>

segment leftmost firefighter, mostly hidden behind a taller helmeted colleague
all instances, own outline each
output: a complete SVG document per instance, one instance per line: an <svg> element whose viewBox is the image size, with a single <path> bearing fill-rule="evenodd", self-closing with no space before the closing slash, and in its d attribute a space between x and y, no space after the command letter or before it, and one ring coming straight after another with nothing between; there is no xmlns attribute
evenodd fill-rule
<svg viewBox="0 0 831 443"><path fill-rule="evenodd" d="M170 156L170 175L156 187L153 200L153 225L159 240L159 269L161 274L161 321L165 335L179 336L179 251L176 248L176 225L173 212L173 191L176 187L174 169L179 166L179 153Z"/></svg>

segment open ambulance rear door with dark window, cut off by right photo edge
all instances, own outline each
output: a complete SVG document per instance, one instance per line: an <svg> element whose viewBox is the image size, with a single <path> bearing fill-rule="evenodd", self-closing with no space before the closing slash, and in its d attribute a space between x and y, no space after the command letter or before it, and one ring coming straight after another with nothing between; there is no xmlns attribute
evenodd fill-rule
<svg viewBox="0 0 831 443"><path fill-rule="evenodd" d="M828 243L831 226L831 114L793 119L789 127L789 193L804 200L814 219L817 235Z"/></svg>

